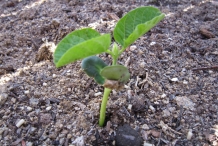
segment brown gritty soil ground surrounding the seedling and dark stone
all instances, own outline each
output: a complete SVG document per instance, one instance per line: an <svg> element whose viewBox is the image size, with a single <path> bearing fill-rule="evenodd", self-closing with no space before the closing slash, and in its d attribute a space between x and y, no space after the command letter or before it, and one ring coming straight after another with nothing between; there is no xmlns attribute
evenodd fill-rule
<svg viewBox="0 0 218 146"><path fill-rule="evenodd" d="M82 27L112 33L147 5L166 17L119 58L131 79L111 93L101 128L103 87L80 61L55 68L51 50ZM0 8L1 146L110 146L123 124L144 146L218 145L217 1L0 0Z"/></svg>

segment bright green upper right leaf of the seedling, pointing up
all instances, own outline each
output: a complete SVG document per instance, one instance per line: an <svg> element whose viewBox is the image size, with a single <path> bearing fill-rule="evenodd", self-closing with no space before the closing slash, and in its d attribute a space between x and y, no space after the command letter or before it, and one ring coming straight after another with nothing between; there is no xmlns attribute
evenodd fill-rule
<svg viewBox="0 0 218 146"><path fill-rule="evenodd" d="M114 29L114 39L123 48L127 48L163 18L164 14L155 7L136 8L119 20Z"/></svg>

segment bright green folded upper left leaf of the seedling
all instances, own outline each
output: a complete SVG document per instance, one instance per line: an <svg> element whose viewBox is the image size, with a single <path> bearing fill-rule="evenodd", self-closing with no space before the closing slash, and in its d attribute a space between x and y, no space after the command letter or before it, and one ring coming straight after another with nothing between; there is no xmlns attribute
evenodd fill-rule
<svg viewBox="0 0 218 146"><path fill-rule="evenodd" d="M56 67L106 52L111 43L110 34L100 35L91 28L73 31L64 37L54 52Z"/></svg>

